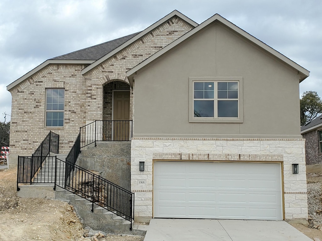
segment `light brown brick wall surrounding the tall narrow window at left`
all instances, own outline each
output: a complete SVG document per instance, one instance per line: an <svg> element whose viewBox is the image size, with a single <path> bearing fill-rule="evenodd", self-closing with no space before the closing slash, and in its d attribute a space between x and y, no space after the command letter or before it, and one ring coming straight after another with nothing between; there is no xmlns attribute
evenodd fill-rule
<svg viewBox="0 0 322 241"><path fill-rule="evenodd" d="M32 154L48 132L60 134L60 152L68 152L85 125L84 65L49 65L14 88L11 107L10 151ZM47 71L49 70L49 71ZM66 81L68 79L68 81ZM29 83L26 85L25 83ZM64 127L45 127L45 89L65 89ZM20 91L18 91L20 89Z"/></svg>

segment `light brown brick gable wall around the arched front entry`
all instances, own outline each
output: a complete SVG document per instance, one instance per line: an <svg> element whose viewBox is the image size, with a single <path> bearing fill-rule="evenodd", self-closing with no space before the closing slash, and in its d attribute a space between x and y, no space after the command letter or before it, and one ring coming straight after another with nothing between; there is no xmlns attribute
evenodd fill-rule
<svg viewBox="0 0 322 241"><path fill-rule="evenodd" d="M193 27L174 17L154 29L141 39L137 40L118 54L107 59L102 64L93 68L90 73L86 73L87 80L87 120L100 120L102 118L103 100L101 97L102 85L104 83L121 79L128 83L126 71L141 63L158 50L181 37ZM96 103L90 102L92 98L97 98ZM132 92L130 93L130 103L133 104ZM132 107L131 113L132 116ZM92 111L95 109L96 111Z"/></svg>

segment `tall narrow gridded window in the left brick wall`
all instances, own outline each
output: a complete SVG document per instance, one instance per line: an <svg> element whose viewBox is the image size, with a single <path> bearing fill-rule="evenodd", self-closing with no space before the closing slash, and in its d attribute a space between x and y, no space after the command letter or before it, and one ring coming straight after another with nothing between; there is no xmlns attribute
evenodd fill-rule
<svg viewBox="0 0 322 241"><path fill-rule="evenodd" d="M64 89L46 89L46 127L64 126Z"/></svg>

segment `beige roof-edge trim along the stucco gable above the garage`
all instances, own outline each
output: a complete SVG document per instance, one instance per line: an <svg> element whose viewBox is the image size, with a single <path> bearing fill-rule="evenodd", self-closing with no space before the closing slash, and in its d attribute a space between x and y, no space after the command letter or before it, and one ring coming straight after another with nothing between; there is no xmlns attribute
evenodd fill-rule
<svg viewBox="0 0 322 241"><path fill-rule="evenodd" d="M287 65L289 65L289 66L295 68L296 70L298 70L298 74L300 75L300 82L302 82L305 78L307 78L309 76L310 72L307 69L301 67L300 65L298 65L294 61L292 61L289 58L287 58L286 56L282 55L281 53L279 53L275 49L272 49L267 44L265 44L262 41L258 40L257 38L255 38L251 34L247 33L246 31L242 30L241 28L237 27L232 22L229 22L227 19L223 18L218 13L216 13L215 15L213 15L212 17L210 17L209 19L207 19L203 23L199 24L194 29L192 29L189 32L185 33L183 36L181 36L177 40L173 41L172 43L170 43L169 45L167 45L163 49L160 49L158 52L156 52L155 54L153 54L152 56L150 56L146 60L142 61L137 66L135 66L132 69L128 70L126 73L127 73L128 79L130 81L130 84L132 85L132 81L133 81L133 76L132 75L134 75L136 71L138 71L142 67L146 66L147 64L149 64L150 62L152 62L156 58L160 57L161 55L163 55L164 53L166 53L170 49L174 48L175 46L177 46L178 44L180 44L184 40L188 39L193 34L197 33L198 31L202 30L204 27L206 27L207 25L209 25L209 24L211 24L212 22L215 22L215 21L221 22L225 26L227 26L230 29L232 29L233 31L241 34L243 37L245 37L246 39L250 40L251 42L253 42L257 46L259 46L261 49L265 49L266 51L268 51L269 53L271 53L275 57L279 58L281 61L283 61Z"/></svg>

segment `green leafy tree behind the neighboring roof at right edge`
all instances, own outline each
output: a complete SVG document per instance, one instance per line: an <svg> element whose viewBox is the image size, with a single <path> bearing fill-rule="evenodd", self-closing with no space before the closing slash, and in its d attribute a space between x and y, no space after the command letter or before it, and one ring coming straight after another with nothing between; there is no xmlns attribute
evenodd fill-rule
<svg viewBox="0 0 322 241"><path fill-rule="evenodd" d="M322 100L316 91L306 91L300 99L301 126L322 114Z"/></svg>

